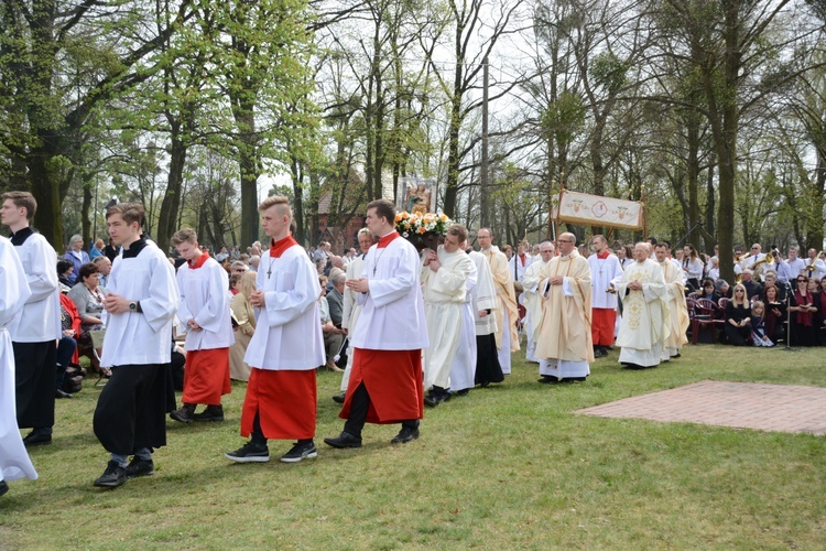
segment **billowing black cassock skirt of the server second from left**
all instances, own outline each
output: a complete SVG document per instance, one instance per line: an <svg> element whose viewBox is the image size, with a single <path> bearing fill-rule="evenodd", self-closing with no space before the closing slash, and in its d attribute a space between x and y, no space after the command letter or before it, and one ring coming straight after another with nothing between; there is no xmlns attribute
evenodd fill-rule
<svg viewBox="0 0 826 551"><path fill-rule="evenodd" d="M166 445L166 398L165 366L115 366L95 409L95 435L119 455Z"/></svg>

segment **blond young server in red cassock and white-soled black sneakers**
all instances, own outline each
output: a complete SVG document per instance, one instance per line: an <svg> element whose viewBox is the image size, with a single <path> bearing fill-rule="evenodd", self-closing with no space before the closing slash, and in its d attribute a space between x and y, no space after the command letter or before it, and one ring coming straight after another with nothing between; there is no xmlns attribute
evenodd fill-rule
<svg viewBox="0 0 826 551"><path fill-rule="evenodd" d="M258 207L270 248L261 255L258 289L249 301L259 312L244 361L251 367L241 413L241 435L250 441L226 455L237 463L270 461L269 439L296 440L284 463L316 457L316 368L324 365L318 312L322 288L313 263L290 233L286 197Z"/></svg>

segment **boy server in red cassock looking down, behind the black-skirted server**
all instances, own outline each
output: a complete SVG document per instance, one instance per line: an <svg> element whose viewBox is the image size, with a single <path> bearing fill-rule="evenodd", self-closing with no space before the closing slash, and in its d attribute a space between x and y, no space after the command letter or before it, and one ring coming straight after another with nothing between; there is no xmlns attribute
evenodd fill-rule
<svg viewBox="0 0 826 551"><path fill-rule="evenodd" d="M178 331L186 334L184 396L181 409L170 417L182 423L224 421L221 396L232 391L229 347L235 343L227 270L200 250L198 236L191 228L176 231L170 242L186 260L176 277ZM206 409L195 413L198 403Z"/></svg>

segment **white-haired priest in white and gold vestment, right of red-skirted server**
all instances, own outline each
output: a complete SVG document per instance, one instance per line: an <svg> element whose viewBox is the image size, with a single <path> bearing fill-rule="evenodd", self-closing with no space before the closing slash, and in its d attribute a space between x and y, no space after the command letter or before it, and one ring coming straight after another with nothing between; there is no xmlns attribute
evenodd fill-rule
<svg viewBox="0 0 826 551"><path fill-rule="evenodd" d="M619 361L632 369L660 365L669 336L665 279L660 264L649 258L650 249L646 242L637 244L635 262L626 268L617 288L623 306L617 336Z"/></svg>

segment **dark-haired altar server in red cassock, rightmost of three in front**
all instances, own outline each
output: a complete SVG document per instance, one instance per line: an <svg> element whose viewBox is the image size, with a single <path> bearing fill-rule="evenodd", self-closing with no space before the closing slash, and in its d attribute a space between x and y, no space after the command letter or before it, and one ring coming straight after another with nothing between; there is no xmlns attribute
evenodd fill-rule
<svg viewBox="0 0 826 551"><path fill-rule="evenodd" d="M424 413L422 348L428 345L427 327L419 253L399 236L394 222L395 208L389 201L367 205L367 227L379 242L367 253L362 277L347 280L363 307L350 335L352 372L338 414L347 421L341 434L324 439L333 447L361 447L366 422L402 423L393 443L419 437L419 420Z"/></svg>

